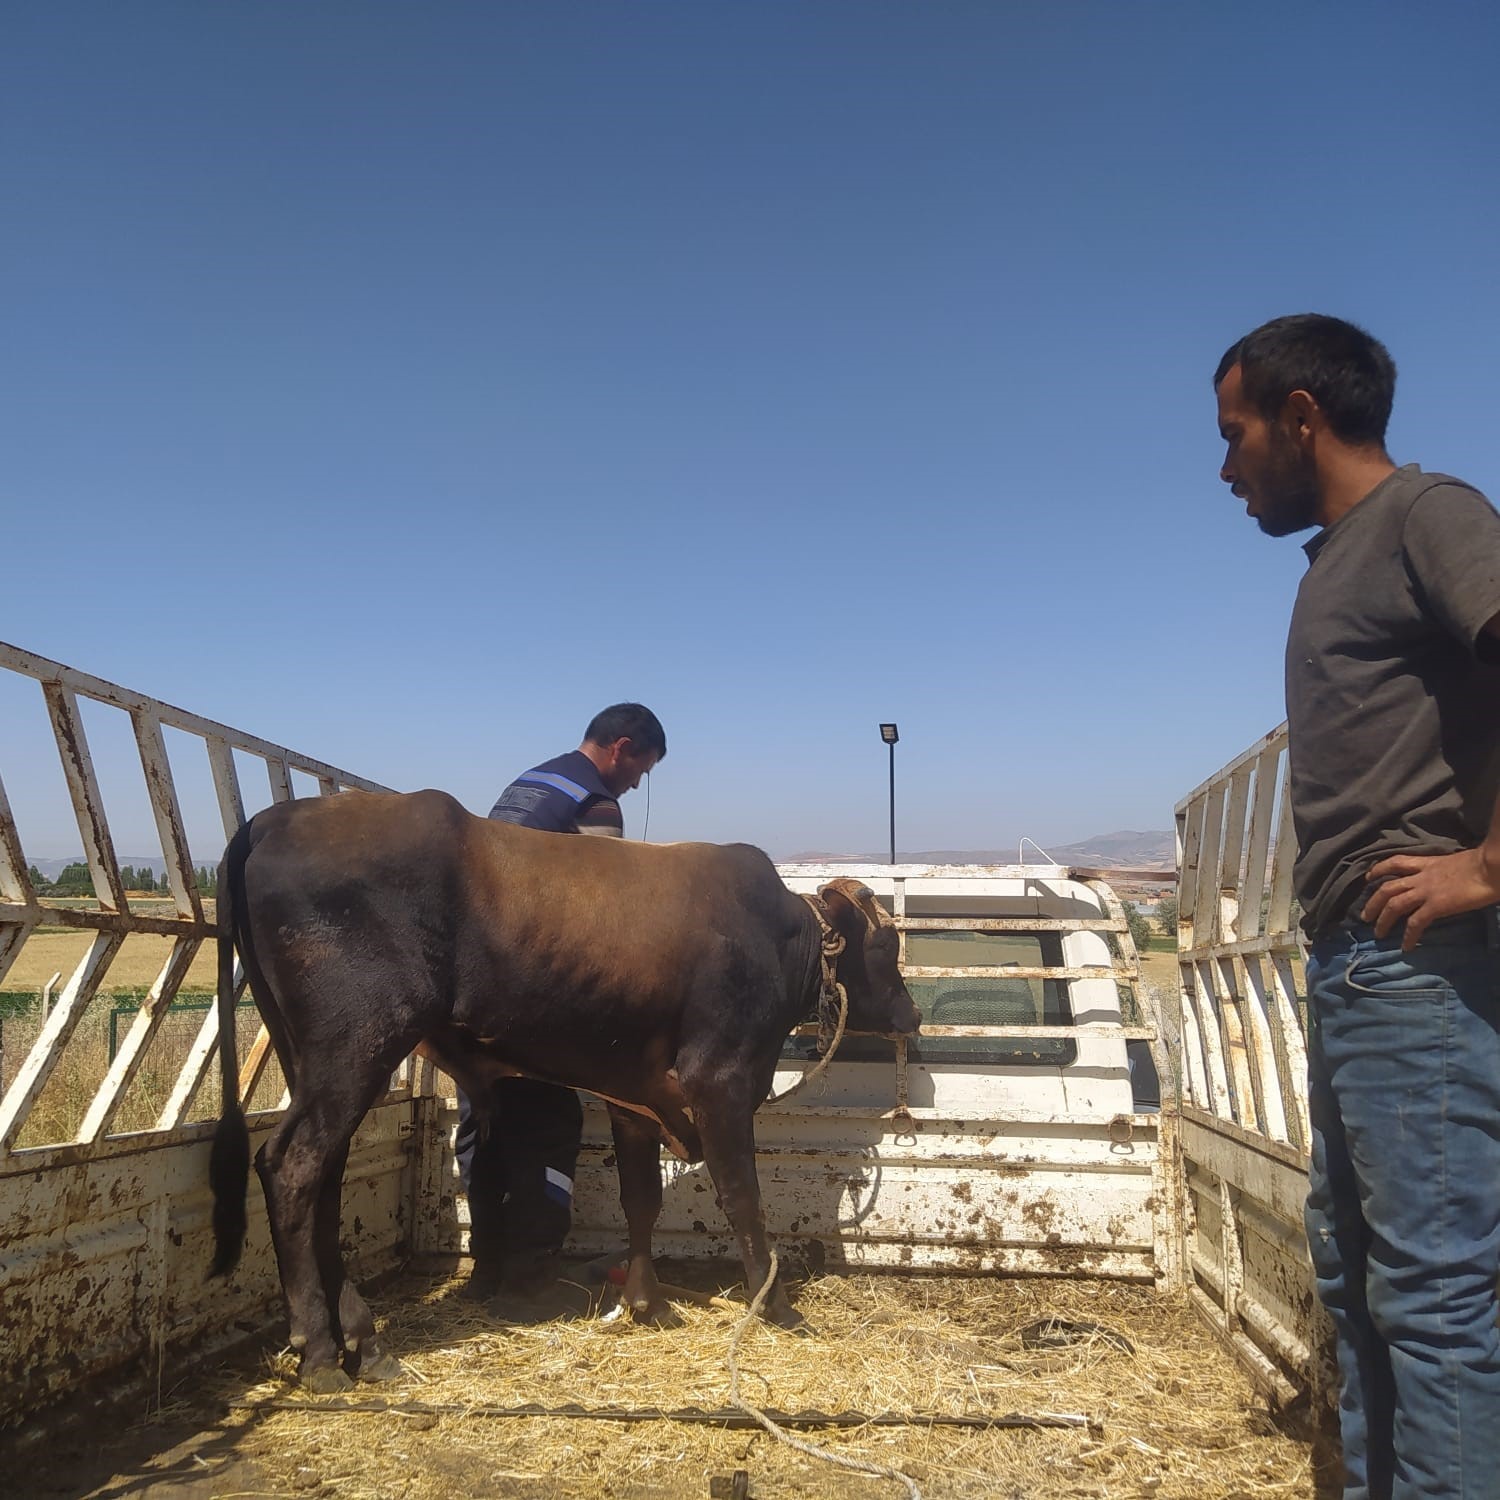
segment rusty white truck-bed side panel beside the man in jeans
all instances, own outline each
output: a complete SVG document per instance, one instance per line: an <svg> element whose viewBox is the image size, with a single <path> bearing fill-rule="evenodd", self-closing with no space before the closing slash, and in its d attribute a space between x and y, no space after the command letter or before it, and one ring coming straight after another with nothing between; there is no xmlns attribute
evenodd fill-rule
<svg viewBox="0 0 1500 1500"><path fill-rule="evenodd" d="M1280 1400L1330 1389L1302 1227L1308 1098L1282 724L1176 808L1186 1274Z"/></svg>

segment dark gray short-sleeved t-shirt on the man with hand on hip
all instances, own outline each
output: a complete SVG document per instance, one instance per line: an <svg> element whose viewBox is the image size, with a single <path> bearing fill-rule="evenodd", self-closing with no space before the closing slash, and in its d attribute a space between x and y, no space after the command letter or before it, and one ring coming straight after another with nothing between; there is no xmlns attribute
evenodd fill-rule
<svg viewBox="0 0 1500 1500"><path fill-rule="evenodd" d="M1305 546L1287 634L1294 885L1322 936L1372 864L1480 843L1500 790L1500 516L1414 464Z"/></svg>

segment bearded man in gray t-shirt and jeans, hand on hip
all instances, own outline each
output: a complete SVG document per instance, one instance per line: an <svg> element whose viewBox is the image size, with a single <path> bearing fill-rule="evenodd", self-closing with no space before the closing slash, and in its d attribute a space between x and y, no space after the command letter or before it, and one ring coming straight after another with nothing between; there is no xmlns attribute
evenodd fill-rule
<svg viewBox="0 0 1500 1500"><path fill-rule="evenodd" d="M1220 477L1318 526L1287 638L1308 948L1306 1228L1346 1496L1500 1474L1500 516L1384 447L1395 366L1278 318L1214 376Z"/></svg>

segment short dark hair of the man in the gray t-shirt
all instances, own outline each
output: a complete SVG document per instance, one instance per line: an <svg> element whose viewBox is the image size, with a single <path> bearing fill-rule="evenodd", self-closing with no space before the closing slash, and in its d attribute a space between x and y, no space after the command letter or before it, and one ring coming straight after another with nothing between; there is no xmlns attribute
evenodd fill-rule
<svg viewBox="0 0 1500 1500"><path fill-rule="evenodd" d="M1232 344L1214 372L1214 388L1238 364L1245 399L1269 422L1287 396L1305 390L1334 436L1352 447L1386 441L1396 393L1395 360L1364 328L1320 312L1274 318Z"/></svg>

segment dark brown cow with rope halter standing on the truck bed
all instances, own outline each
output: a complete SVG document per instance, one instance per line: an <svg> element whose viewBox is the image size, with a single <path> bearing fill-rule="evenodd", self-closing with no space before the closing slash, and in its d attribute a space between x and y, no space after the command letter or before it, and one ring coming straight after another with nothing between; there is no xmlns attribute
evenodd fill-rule
<svg viewBox="0 0 1500 1500"><path fill-rule="evenodd" d="M626 1300L662 1311L651 1232L658 1140L706 1161L752 1288L770 1269L753 1114L782 1044L812 1014L825 933L849 1026L912 1034L896 927L856 880L794 896L748 844L568 838L466 813L444 792L282 802L219 868L216 1257L244 1242L249 1132L237 1104L232 945L291 1102L255 1161L302 1380L314 1390L399 1368L345 1280L339 1197L350 1137L420 1048L472 1100L506 1074L610 1104L630 1228ZM801 1318L780 1286L766 1316Z"/></svg>

